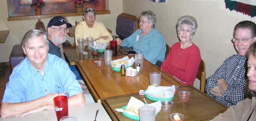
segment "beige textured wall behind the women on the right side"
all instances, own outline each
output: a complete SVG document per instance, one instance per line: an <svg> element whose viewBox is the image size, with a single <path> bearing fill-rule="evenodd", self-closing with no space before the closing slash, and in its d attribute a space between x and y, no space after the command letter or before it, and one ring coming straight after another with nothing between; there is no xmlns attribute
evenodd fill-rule
<svg viewBox="0 0 256 121"><path fill-rule="evenodd" d="M206 76L211 76L224 60L237 54L230 41L234 26L242 20L256 22L242 13L226 9L224 0L166 0L154 3L145 0L123 0L123 12L136 15L150 10L157 16L156 28L163 34L169 46L178 42L176 22L179 17L191 15L197 19L198 29L193 42L199 47L206 64ZM196 80L196 87L199 85Z"/></svg>

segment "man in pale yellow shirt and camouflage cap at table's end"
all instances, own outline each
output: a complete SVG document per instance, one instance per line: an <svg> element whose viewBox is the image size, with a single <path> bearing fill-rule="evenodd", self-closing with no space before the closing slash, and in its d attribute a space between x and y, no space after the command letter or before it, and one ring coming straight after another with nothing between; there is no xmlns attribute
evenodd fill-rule
<svg viewBox="0 0 256 121"><path fill-rule="evenodd" d="M97 22L95 9L87 7L84 10L84 16L82 21L75 27L75 44L77 46L77 39L86 37L93 37L94 41L101 43L109 43L113 40L109 31L105 28L103 23Z"/></svg>

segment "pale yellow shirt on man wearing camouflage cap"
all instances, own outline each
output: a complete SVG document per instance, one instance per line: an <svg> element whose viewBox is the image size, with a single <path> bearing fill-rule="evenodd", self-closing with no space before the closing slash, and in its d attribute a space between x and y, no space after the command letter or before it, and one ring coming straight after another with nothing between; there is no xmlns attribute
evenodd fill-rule
<svg viewBox="0 0 256 121"><path fill-rule="evenodd" d="M108 36L109 39L98 39L103 36ZM93 37L93 39L98 39L97 42L101 43L109 43L109 41L113 40L113 37L109 33L109 31L105 28L103 23L95 21L93 24L93 28L89 28L86 24L86 21L82 21L78 23L75 27L75 44L77 46L77 39L84 38L86 41L86 37Z"/></svg>

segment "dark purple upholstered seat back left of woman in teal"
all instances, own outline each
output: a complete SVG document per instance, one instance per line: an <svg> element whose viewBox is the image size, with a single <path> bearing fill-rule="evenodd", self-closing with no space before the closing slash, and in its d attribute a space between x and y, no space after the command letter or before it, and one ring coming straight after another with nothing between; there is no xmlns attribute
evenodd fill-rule
<svg viewBox="0 0 256 121"><path fill-rule="evenodd" d="M122 13L116 19L116 34L123 40L139 29L138 18L133 15Z"/></svg>

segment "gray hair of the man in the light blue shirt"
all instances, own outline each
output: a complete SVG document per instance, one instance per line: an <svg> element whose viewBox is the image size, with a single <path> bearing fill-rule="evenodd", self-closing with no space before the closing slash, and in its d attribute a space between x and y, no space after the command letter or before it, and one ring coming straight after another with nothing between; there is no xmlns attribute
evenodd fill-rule
<svg viewBox="0 0 256 121"><path fill-rule="evenodd" d="M25 45L28 44L28 42L29 42L31 39L37 38L37 37L39 37L39 36L43 36L45 42L46 42L47 44L49 44L49 41L48 41L46 35L45 35L42 31L40 31L40 30L29 30L29 31L24 35L24 37L23 37L23 39L22 39L22 46L25 47Z"/></svg>

